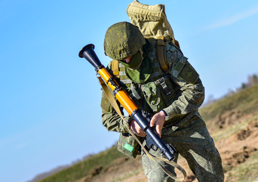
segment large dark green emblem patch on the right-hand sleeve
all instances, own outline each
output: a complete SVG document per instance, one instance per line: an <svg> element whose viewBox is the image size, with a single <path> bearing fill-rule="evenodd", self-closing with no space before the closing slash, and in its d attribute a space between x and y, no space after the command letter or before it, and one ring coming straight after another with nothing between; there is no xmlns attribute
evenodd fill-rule
<svg viewBox="0 0 258 182"><path fill-rule="evenodd" d="M187 64L184 66L179 75L191 84L194 84L199 78L199 74Z"/></svg>

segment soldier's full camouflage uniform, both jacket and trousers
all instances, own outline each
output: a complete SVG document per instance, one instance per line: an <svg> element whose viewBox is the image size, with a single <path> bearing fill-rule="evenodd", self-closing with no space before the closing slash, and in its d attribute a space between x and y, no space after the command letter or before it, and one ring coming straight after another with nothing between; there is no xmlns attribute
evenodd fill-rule
<svg viewBox="0 0 258 182"><path fill-rule="evenodd" d="M128 82L130 79L123 74L124 66L119 64L121 73L119 84L128 91L139 107L150 113L151 116L161 110L167 113L161 138L165 143L171 143L176 148L175 162L178 159L178 153L180 153L187 160L189 167L200 182L224 181L221 157L198 112L198 108L204 101L204 87L199 75L187 61L187 58L183 56L181 50L171 42L167 43L166 58L170 71L166 75L156 59L155 47L155 41L146 39L143 52L152 63L149 79L142 84L130 83L130 81ZM107 69L111 69L111 63ZM162 84L159 84L162 81L171 92L169 96L167 96ZM151 91L151 95L146 93L148 86L153 86L152 89L155 90ZM140 99L136 99L133 90L137 91ZM124 119L127 122L132 120L130 116L124 116ZM102 93L102 123L108 131L128 133L126 124L107 101L104 93ZM159 150L151 149L150 153L160 155ZM167 166L162 161L158 162L173 171L173 167ZM144 152L142 152L142 163L149 182L174 181Z"/></svg>

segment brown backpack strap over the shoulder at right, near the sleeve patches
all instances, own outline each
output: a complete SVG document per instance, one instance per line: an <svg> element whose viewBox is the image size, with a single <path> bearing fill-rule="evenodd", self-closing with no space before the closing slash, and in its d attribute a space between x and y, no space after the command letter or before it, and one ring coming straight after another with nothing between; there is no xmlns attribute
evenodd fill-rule
<svg viewBox="0 0 258 182"><path fill-rule="evenodd" d="M156 56L159 61L161 69L168 74L169 73L169 65L167 63L166 58L166 47L167 45L164 43L164 37L160 36L157 39L157 47L156 47Z"/></svg>

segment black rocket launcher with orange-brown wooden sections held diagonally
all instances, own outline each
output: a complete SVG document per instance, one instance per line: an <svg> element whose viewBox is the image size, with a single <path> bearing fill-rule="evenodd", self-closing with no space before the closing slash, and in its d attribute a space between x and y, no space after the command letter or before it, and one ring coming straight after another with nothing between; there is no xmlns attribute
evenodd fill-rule
<svg viewBox="0 0 258 182"><path fill-rule="evenodd" d="M102 79L114 92L117 100L122 104L130 116L140 125L141 129L147 135L147 147L150 148L152 145L155 145L161 150L162 155L165 155L169 161L172 161L175 158L173 153L176 152L174 147L171 144L166 145L156 134L156 132L150 127L150 119L148 119L145 113L142 113L141 109L134 103L128 93L122 89L121 86L119 86L117 81L108 72L105 66L102 65L94 51L94 48L95 46L93 44L86 45L80 50L79 57L85 58L91 63L92 66L94 66L95 71L101 75Z"/></svg>

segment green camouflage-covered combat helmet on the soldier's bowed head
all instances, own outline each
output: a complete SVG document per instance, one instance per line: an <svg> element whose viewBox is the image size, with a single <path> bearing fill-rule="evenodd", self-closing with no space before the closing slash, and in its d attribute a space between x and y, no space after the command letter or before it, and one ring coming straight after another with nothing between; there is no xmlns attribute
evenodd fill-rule
<svg viewBox="0 0 258 182"><path fill-rule="evenodd" d="M123 60L138 52L146 43L141 31L129 22L119 22L107 29L104 41L105 54Z"/></svg>

